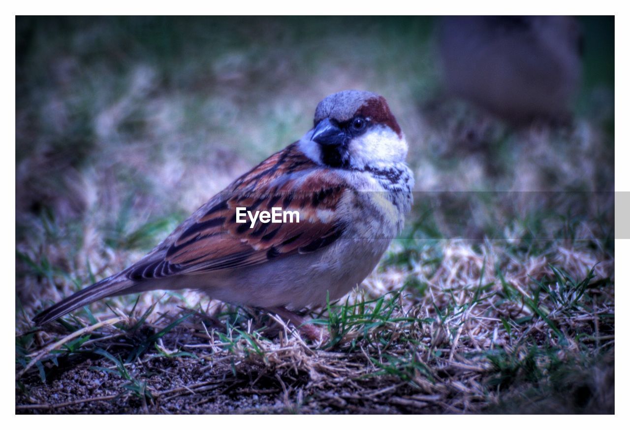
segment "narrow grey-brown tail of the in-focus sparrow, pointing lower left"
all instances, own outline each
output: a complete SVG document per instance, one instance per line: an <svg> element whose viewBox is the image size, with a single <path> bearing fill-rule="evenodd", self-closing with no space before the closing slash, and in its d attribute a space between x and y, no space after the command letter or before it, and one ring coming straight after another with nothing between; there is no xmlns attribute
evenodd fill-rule
<svg viewBox="0 0 630 430"><path fill-rule="evenodd" d="M120 275L105 278L102 281L96 282L96 284L92 284L88 288L77 291L77 293L72 294L72 296L38 313L38 315L33 318L33 322L35 322L36 325L44 325L59 317L63 317L66 313L81 308L81 306L89 305L89 303L98 299L126 294L125 290L134 286L134 284L134 281L127 279L127 277L121 277ZM133 292L134 291L129 291L129 293Z"/></svg>

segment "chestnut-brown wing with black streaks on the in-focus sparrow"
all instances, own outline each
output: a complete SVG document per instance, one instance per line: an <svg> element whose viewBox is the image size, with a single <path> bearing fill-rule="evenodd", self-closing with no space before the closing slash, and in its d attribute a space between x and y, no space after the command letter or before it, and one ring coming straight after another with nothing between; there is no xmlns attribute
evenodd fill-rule
<svg viewBox="0 0 630 430"><path fill-rule="evenodd" d="M326 178L293 146L263 161L217 194L173 235L130 267L134 281L198 274L261 264L333 243L344 226L334 214L348 191L340 178ZM236 222L236 208L299 212L299 223Z"/></svg>

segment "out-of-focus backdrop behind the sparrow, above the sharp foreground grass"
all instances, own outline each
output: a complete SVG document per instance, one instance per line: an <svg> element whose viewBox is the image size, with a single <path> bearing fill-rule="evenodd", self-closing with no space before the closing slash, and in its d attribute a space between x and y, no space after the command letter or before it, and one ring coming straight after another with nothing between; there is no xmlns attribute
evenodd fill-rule
<svg viewBox="0 0 630 430"><path fill-rule="evenodd" d="M612 17L18 17L16 50L21 305L122 269L345 89L410 144L395 249L613 259Z"/></svg>

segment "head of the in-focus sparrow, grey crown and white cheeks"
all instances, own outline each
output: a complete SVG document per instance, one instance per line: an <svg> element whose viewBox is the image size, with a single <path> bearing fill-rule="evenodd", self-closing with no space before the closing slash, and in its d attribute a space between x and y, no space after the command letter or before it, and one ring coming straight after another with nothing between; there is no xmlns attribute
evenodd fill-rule
<svg viewBox="0 0 630 430"><path fill-rule="evenodd" d="M368 91L341 91L315 110L314 127L301 140L312 160L363 170L404 161L407 143L386 100Z"/></svg>

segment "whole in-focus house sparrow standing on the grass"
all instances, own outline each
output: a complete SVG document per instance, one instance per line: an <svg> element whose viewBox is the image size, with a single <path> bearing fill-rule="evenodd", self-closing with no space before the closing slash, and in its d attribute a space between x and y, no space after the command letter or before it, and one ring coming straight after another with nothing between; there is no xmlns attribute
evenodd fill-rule
<svg viewBox="0 0 630 430"><path fill-rule="evenodd" d="M43 325L108 296L193 288L272 311L317 337L319 330L291 310L341 298L374 269L412 204L406 153L382 96L330 95L299 141L212 197L134 265L33 321ZM273 207L299 214L299 222L244 216Z"/></svg>

